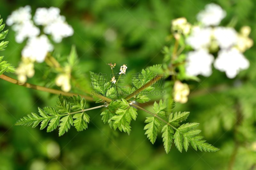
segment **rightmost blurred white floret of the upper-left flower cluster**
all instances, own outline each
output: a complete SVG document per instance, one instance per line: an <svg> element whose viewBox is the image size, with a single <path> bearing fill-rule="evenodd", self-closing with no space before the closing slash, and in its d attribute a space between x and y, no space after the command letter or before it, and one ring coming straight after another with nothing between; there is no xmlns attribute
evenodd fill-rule
<svg viewBox="0 0 256 170"><path fill-rule="evenodd" d="M60 42L62 38L73 35L73 28L62 20L57 20L44 27L44 33L51 34L55 42Z"/></svg>

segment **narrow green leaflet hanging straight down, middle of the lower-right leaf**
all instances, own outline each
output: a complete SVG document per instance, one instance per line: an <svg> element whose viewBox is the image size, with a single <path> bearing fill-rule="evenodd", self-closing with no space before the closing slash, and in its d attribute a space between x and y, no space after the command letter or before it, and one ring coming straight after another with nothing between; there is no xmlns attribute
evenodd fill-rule
<svg viewBox="0 0 256 170"><path fill-rule="evenodd" d="M173 141L173 134L174 131L172 129L172 127L170 127L169 125L164 125L161 131L162 134L162 138L163 138L163 142L164 142L164 150L166 153L169 153L172 147L172 141Z"/></svg>

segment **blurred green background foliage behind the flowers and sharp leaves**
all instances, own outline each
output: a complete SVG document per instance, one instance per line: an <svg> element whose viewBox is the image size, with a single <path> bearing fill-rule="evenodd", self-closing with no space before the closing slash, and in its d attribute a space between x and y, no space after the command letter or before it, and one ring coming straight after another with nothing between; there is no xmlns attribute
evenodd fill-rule
<svg viewBox="0 0 256 170"><path fill-rule="evenodd" d="M110 62L117 64L116 71L127 64L131 72L162 63L163 46L173 43L166 41L170 21L186 17L193 23L208 3L219 4L227 11L223 25L234 19L237 31L241 26L251 26L251 38L256 40L254 0L1 0L0 14L5 21L20 6L31 5L33 12L38 7L59 7L75 33L55 44L55 53L67 56L75 44L81 72L87 75L80 78L89 81L88 71L110 73L106 65ZM17 66L24 43L17 44L11 30L6 41L10 41L9 45L1 55ZM148 115L141 111L132 122L130 136L104 125L100 110L88 112L91 122L87 130L77 132L71 128L62 137L58 137L57 130L46 133L39 127L14 126L22 116L37 113L37 107L54 106L57 96L1 80L0 170L256 169L255 54L255 47L245 53L250 68L234 79L214 70L211 77L200 77L199 83L187 82L191 89L189 101L176 108L191 112L188 121L200 123L205 139L220 148L215 153L193 149L180 153L173 147L167 155L160 134L154 145L144 135ZM37 73L28 82L44 85L42 78L48 84L54 82L53 77L39 71L43 67L36 66ZM159 100L162 96L153 97Z"/></svg>

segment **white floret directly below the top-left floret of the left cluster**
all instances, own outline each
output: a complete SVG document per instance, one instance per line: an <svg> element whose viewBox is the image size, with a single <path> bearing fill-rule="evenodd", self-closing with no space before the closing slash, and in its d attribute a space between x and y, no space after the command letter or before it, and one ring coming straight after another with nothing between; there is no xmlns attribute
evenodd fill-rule
<svg viewBox="0 0 256 170"><path fill-rule="evenodd" d="M15 41L18 43L22 43L27 37L35 37L40 34L39 28L31 20L22 24L15 24L12 29L16 32Z"/></svg>

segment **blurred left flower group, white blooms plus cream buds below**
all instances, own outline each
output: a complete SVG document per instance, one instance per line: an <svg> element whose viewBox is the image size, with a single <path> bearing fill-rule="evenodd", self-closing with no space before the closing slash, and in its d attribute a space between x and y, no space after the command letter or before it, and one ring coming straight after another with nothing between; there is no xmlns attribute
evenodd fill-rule
<svg viewBox="0 0 256 170"><path fill-rule="evenodd" d="M21 51L21 63L16 70L21 83L25 83L27 77L34 76L34 62L44 62L47 53L53 51L53 45L45 34L51 35L52 40L59 43L62 38L74 33L73 28L66 23L66 18L60 15L59 8L38 8L33 20L31 7L28 5L13 11L6 20L6 24L12 26L12 29L16 32L16 42L22 43L28 38L26 46ZM40 29L36 25L43 26L45 34L40 33ZM56 85L61 86L63 91L68 92L71 89L70 71L59 74L56 78Z"/></svg>

